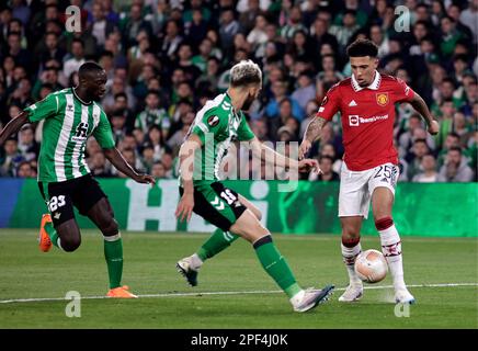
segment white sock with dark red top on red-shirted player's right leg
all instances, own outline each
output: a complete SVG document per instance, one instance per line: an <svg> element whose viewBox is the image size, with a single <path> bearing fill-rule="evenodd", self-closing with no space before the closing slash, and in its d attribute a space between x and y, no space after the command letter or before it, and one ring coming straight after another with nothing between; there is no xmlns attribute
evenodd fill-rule
<svg viewBox="0 0 478 351"><path fill-rule="evenodd" d="M401 259L401 241L391 217L375 222L375 227L380 235L382 252L388 262L394 287L396 291L406 288L403 281L403 264Z"/></svg>

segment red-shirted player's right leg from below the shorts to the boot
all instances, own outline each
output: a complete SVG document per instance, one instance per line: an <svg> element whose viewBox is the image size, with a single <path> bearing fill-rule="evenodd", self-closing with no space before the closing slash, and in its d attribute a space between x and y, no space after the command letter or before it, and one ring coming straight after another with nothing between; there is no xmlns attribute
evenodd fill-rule
<svg viewBox="0 0 478 351"><path fill-rule="evenodd" d="M401 256L401 240L391 217L394 192L388 186L377 186L372 194L372 210L375 227L380 235L382 252L387 260L394 280L395 299L397 303L414 303L403 280L403 263Z"/></svg>

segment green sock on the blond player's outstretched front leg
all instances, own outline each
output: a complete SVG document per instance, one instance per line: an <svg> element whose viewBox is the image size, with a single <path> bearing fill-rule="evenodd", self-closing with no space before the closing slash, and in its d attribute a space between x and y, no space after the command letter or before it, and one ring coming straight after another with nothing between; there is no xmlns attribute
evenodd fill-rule
<svg viewBox="0 0 478 351"><path fill-rule="evenodd" d="M287 261L278 252L270 235L255 241L254 249L265 272L271 275L289 298L300 292L301 288L297 284Z"/></svg>

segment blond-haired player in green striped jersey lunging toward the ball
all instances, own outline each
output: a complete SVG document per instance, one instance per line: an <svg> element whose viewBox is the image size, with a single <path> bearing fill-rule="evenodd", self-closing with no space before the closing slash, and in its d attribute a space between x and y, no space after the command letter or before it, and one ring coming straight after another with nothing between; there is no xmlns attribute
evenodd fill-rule
<svg viewBox="0 0 478 351"><path fill-rule="evenodd" d="M296 312L306 312L328 299L333 285L322 290L303 290L285 258L277 250L271 234L260 219L260 211L218 178L219 165L234 140L249 141L254 156L266 163L289 167L293 171L318 170L316 160L289 159L266 147L254 136L242 111L258 99L262 72L251 60L241 61L230 70L226 93L206 102L196 114L190 134L180 149L180 194L177 216L191 218L192 212L218 227L213 236L192 256L183 258L177 268L191 285L197 284L203 262L226 249L237 237L251 242L265 272L288 296Z"/></svg>

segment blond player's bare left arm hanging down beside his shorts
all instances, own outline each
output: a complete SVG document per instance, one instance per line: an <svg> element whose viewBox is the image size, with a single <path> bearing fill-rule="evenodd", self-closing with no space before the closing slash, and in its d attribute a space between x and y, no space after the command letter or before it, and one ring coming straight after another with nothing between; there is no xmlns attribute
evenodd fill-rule
<svg viewBox="0 0 478 351"><path fill-rule="evenodd" d="M196 134L191 134L187 139L181 145L179 151L181 181L184 193L181 196L178 207L175 210L175 217L181 222L186 219L190 222L194 208L194 154L195 150L201 148L202 141Z"/></svg>

